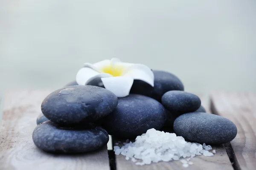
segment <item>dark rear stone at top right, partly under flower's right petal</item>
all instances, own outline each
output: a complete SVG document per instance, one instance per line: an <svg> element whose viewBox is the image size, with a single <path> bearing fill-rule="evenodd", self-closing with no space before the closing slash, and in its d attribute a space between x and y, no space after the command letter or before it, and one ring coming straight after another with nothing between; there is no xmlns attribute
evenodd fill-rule
<svg viewBox="0 0 256 170"><path fill-rule="evenodd" d="M184 91L182 82L174 74L157 70L153 70L153 73L154 87L141 80L134 80L130 94L142 94L161 102L161 97L167 91Z"/></svg>

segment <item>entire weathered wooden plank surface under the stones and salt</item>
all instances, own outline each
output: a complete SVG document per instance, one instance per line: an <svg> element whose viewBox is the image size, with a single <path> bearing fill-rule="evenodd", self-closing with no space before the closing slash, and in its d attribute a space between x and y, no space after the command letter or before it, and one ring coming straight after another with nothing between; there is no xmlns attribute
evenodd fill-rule
<svg viewBox="0 0 256 170"><path fill-rule="evenodd" d="M36 127L36 118L41 113L41 101L49 92L12 91L2 98L0 170L110 170L107 147L79 155L53 155L35 147L32 142L32 132ZM209 113L209 96L198 96ZM254 170L256 167L255 102L256 94L211 95L213 113L230 119L238 128L236 138L225 144L225 147L223 144L212 147L216 150L216 154L212 157L196 156L191 159L193 165L185 168L180 161L139 166L131 160L126 161L122 155L113 156L111 153L112 169L116 167L117 170L233 170L234 167L235 170ZM113 143L118 141L113 139Z"/></svg>

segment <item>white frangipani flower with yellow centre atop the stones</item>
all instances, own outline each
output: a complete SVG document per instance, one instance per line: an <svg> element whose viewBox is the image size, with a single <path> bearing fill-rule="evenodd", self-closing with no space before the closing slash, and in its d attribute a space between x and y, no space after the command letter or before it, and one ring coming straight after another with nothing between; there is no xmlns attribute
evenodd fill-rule
<svg viewBox="0 0 256 170"><path fill-rule="evenodd" d="M87 85L96 78L101 78L105 88L117 97L129 95L134 79L143 80L154 87L154 74L150 68L142 64L121 62L117 58L94 64L84 63L84 67L76 74L78 85Z"/></svg>

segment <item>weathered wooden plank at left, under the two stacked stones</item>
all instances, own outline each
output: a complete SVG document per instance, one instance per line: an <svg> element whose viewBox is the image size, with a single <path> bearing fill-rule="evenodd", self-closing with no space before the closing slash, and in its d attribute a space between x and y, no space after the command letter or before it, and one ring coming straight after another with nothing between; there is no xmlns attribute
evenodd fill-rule
<svg viewBox="0 0 256 170"><path fill-rule="evenodd" d="M108 150L53 155L35 147L32 132L50 91L12 91L4 99L0 127L0 170L110 170Z"/></svg>

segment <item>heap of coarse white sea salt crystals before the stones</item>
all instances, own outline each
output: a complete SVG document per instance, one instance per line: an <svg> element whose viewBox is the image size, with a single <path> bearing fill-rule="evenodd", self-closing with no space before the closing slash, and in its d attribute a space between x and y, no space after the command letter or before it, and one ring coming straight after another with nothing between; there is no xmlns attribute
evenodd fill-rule
<svg viewBox="0 0 256 170"><path fill-rule="evenodd" d="M149 129L141 136L137 136L135 142L129 142L127 139L123 144L121 148L114 146L115 154L125 156L126 160L131 159L136 165L180 160L183 167L188 167L193 164L189 160L196 155L213 156L208 151L212 149L210 145L186 142L183 137L176 136L175 133L165 133L155 129Z"/></svg>

